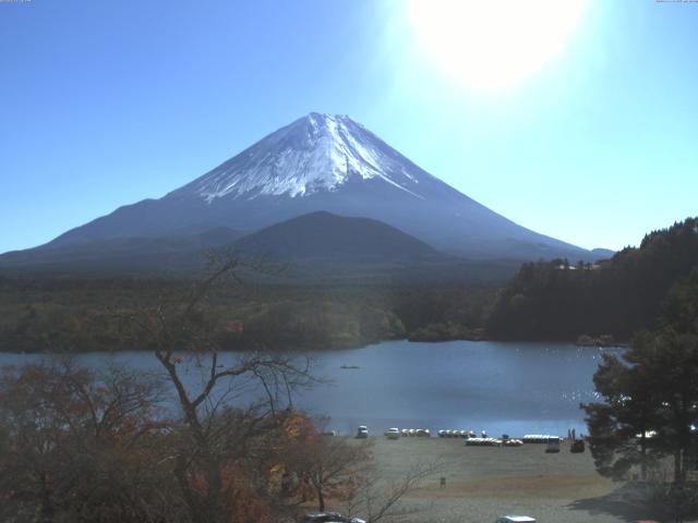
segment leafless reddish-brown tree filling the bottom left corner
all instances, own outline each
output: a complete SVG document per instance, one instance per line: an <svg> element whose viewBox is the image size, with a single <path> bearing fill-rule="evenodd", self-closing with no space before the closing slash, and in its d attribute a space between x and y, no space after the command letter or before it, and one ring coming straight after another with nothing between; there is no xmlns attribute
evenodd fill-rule
<svg viewBox="0 0 698 523"><path fill-rule="evenodd" d="M4 369L0 518L39 522L177 521L157 463L167 425L160 387L115 366L70 361Z"/></svg>

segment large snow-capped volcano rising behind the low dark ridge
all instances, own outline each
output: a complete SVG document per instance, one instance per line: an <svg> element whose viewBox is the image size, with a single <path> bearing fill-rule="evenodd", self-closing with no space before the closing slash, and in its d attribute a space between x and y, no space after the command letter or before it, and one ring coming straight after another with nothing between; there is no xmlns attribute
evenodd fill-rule
<svg viewBox="0 0 698 523"><path fill-rule="evenodd" d="M310 113L164 197L120 207L21 258L38 262L40 253L120 242L133 248L134 239L168 239L168 248L178 244L172 239L184 239L182 245L191 248L214 236L212 243L221 242L220 234L229 241L317 211L380 220L473 260L598 257L494 212L351 118ZM1 256L0 267L17 259L19 253L8 254L15 256Z"/></svg>

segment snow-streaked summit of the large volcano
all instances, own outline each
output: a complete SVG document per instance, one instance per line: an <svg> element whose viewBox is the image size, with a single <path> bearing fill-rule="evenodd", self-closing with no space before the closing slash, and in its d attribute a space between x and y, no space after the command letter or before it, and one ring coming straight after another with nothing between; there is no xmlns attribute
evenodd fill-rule
<svg viewBox="0 0 698 523"><path fill-rule="evenodd" d="M412 172L410 172L412 171ZM352 177L380 179L419 195L419 172L351 118L312 112L188 185L206 202L224 196L308 196Z"/></svg>

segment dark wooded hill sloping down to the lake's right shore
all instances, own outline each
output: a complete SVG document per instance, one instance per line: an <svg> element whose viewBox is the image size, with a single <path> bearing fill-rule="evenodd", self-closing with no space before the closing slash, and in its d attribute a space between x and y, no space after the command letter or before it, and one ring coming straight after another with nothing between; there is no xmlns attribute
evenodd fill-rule
<svg viewBox="0 0 698 523"><path fill-rule="evenodd" d="M555 259L525 264L488 319L498 339L629 340L655 327L672 285L698 265L698 219L645 236L598 265Z"/></svg>

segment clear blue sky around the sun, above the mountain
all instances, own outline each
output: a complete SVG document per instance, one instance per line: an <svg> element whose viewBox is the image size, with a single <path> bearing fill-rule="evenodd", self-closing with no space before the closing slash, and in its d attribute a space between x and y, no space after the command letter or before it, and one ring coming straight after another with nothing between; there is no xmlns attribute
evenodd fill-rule
<svg viewBox="0 0 698 523"><path fill-rule="evenodd" d="M160 197L311 111L583 247L698 214L698 3L591 1L559 56L497 92L440 68L406 11L0 2L0 252Z"/></svg>

